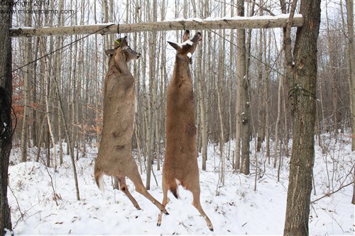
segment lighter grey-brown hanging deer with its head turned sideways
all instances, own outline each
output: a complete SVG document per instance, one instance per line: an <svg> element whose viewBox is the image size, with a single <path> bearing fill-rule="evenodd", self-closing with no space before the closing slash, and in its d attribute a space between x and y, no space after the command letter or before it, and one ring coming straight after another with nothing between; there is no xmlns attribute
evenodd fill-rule
<svg viewBox="0 0 355 236"><path fill-rule="evenodd" d="M132 156L131 142L137 104L134 78L129 71L128 63L138 59L141 54L131 50L126 38L115 41L115 49L105 51L110 59L104 82L104 125L94 167L94 178L99 189L103 190L103 174L117 177L121 191L129 197L133 206L141 209L126 186L127 176L138 193L152 201L162 213L167 213L143 186L137 164Z"/></svg>

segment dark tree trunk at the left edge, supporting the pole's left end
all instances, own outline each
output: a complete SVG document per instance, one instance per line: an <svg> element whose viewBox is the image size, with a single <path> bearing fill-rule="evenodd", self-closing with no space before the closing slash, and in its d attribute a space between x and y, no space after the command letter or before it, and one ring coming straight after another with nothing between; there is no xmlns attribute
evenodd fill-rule
<svg viewBox="0 0 355 236"><path fill-rule="evenodd" d="M9 157L12 147L12 120L11 120L11 94L12 94L12 55L11 38L9 28L11 27L12 1L6 0L0 4L1 11L9 13L0 14L0 234L12 231L11 212L7 200L7 184ZM4 76L3 76L4 75ZM6 124L6 126L5 126Z"/></svg>

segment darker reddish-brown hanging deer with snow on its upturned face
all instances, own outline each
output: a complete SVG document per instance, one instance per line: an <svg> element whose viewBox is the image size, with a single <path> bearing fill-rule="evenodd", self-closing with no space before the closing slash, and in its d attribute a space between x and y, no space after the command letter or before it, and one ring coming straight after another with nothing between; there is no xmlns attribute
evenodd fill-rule
<svg viewBox="0 0 355 236"><path fill-rule="evenodd" d="M178 184L192 192L192 204L206 220L209 230L213 231L211 220L200 205L200 174L197 164L195 102L193 82L190 72L192 53L202 40L196 33L191 40L189 31L183 37L184 43L178 45L168 42L177 51L173 78L170 81L166 101L166 144L163 163L163 206L168 203L168 190L178 198ZM162 214L158 217L161 224Z"/></svg>

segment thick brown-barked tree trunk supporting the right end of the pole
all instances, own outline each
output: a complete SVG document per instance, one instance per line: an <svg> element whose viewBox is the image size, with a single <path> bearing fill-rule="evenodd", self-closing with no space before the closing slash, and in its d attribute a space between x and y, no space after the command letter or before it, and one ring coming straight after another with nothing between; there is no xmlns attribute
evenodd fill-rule
<svg viewBox="0 0 355 236"><path fill-rule="evenodd" d="M284 235L309 235L312 169L315 160L317 38L320 0L301 0L305 24L297 28L290 103L293 116L293 150ZM294 2L293 2L294 4Z"/></svg>

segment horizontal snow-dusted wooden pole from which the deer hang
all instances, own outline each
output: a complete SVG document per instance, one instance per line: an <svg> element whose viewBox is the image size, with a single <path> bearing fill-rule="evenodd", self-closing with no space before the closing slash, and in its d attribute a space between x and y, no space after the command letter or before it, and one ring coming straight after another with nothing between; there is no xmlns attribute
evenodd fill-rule
<svg viewBox="0 0 355 236"><path fill-rule="evenodd" d="M166 31L166 30L217 30L236 28L283 28L288 23L288 15L280 16L254 16L234 17L222 19L182 19L176 21L159 21L149 23L133 23L119 25L120 33L135 33L142 31ZM293 27L303 25L301 15L293 18ZM117 33L117 25L113 23L89 25L89 26L64 26L46 28L11 28L11 37L40 37L49 35L106 35Z"/></svg>

